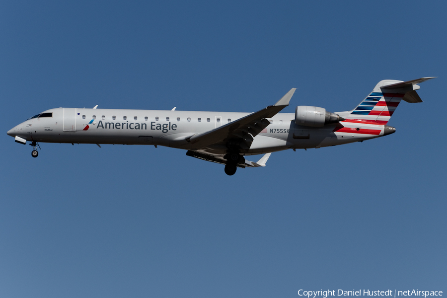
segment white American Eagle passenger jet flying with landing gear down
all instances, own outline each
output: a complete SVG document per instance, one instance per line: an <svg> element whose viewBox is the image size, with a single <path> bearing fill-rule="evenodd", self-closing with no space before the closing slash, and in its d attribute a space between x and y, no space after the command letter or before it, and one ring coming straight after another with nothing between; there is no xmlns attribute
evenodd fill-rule
<svg viewBox="0 0 447 298"><path fill-rule="evenodd" d="M331 113L314 106L289 105L292 88L277 103L254 113L128 109L55 108L39 113L7 132L15 142L31 142L38 156L40 143L152 145L185 149L186 155L237 168L263 167L272 152L363 142L396 132L387 123L404 100L422 102L419 79L381 80L353 110ZM256 162L244 156L264 154Z"/></svg>

